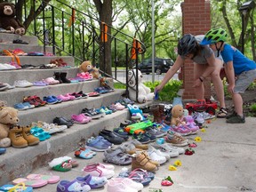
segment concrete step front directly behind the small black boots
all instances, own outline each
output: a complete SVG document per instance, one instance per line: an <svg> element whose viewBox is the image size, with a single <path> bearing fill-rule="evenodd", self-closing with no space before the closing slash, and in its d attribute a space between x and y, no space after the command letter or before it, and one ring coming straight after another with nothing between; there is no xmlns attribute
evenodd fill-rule
<svg viewBox="0 0 256 192"><path fill-rule="evenodd" d="M0 57L1 60L1 57ZM68 59L69 60L69 59ZM17 80L27 80L35 82L53 76L54 72L67 72L67 78L76 77L79 72L78 68L47 68L47 69L17 69L0 71L0 82L13 84ZM9 90L10 91L10 90ZM9 92L8 91L8 92Z"/></svg>

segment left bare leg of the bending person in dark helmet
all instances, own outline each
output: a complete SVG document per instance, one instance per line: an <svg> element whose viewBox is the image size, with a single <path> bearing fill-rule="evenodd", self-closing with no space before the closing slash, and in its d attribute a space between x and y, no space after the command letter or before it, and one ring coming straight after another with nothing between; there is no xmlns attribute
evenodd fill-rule
<svg viewBox="0 0 256 192"><path fill-rule="evenodd" d="M206 66L202 64L195 63L194 66L194 78L198 79L204 73ZM204 84L201 86L195 87L196 100L204 100Z"/></svg>

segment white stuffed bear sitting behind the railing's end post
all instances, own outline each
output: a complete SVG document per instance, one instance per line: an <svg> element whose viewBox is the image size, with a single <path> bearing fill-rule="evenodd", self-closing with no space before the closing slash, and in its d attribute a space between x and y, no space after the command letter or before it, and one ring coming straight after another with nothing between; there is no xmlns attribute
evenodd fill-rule
<svg viewBox="0 0 256 192"><path fill-rule="evenodd" d="M140 70L138 70L138 100L136 100L136 69L128 71L129 98L139 103L153 100L155 97L154 92L150 92L150 89L142 83L142 78L143 76Z"/></svg>

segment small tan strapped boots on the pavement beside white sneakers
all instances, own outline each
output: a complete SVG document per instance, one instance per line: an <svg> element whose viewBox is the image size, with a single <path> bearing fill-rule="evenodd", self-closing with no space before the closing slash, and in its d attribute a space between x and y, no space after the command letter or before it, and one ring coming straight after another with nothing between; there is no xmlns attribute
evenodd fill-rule
<svg viewBox="0 0 256 192"><path fill-rule="evenodd" d="M155 172L158 169L156 164L153 164L149 159L146 151L133 155L132 170L137 168L147 170L148 172Z"/></svg>

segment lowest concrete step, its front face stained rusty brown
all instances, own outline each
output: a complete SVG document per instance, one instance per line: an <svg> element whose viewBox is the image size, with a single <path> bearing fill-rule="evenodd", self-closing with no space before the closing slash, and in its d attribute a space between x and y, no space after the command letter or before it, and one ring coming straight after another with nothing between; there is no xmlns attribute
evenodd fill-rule
<svg viewBox="0 0 256 192"><path fill-rule="evenodd" d="M74 124L67 130L52 135L49 140L41 141L34 147L7 148L0 161L0 186L48 165L53 158L65 156L68 152L74 151L79 141L90 138L92 134L98 135L102 129L113 130L129 116L128 109L116 111L111 115L92 120L88 124Z"/></svg>

